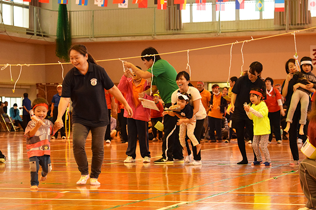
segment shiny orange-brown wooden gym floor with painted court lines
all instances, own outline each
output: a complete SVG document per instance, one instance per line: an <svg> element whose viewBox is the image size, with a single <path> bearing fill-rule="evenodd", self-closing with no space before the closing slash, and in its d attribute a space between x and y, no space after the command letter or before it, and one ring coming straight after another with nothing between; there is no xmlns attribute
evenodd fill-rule
<svg viewBox="0 0 316 210"><path fill-rule="evenodd" d="M288 141L268 146L272 166L236 165L241 159L237 141L202 143L201 166L154 164L162 142L150 142L152 162L143 164L137 148L135 163L123 163L127 144L105 145L100 186L77 185L80 173L72 137L51 141L53 170L30 191L29 160L23 132L0 132L0 209L8 210L297 210L306 198L297 173L288 165ZM299 148L301 145L299 144ZM251 145L246 144L249 161ZM91 136L86 143L91 163ZM300 158L304 155L300 152ZM41 171L41 169L40 169Z"/></svg>

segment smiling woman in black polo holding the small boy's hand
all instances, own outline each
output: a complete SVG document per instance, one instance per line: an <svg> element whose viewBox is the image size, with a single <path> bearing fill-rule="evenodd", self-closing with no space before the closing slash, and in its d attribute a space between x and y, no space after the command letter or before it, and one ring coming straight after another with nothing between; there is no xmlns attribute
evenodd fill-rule
<svg viewBox="0 0 316 210"><path fill-rule="evenodd" d="M73 101L73 150L74 157L81 172L81 178L77 184L85 184L89 179L88 161L85 152L85 141L91 130L92 162L90 184L100 185L98 181L104 157L104 135L107 125L108 108L104 89L115 96L132 116L132 109L124 99L121 92L113 84L105 69L96 64L96 61L88 53L82 44L74 45L69 50L72 68L63 81L58 117L56 122L63 124L62 116L71 99Z"/></svg>

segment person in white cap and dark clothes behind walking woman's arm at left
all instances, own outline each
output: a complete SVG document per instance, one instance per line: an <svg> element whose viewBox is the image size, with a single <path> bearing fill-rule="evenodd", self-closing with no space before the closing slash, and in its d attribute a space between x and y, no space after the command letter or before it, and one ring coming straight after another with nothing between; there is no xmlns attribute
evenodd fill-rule
<svg viewBox="0 0 316 210"><path fill-rule="evenodd" d="M53 123L55 123L55 121L57 120L57 116L58 116L58 104L59 104L59 100L61 97L61 93L63 90L63 86L62 85L58 85L57 86L57 91L58 93L55 94L53 96L53 98L51 99L51 112L50 112L50 117L53 118ZM69 106L69 105L68 105ZM66 117L66 112L63 116L63 122L65 124L65 117ZM66 133L65 133L65 127L60 128L60 135L62 139L66 139ZM55 133L54 136L52 136L52 139L57 139L58 137L58 131Z"/></svg>

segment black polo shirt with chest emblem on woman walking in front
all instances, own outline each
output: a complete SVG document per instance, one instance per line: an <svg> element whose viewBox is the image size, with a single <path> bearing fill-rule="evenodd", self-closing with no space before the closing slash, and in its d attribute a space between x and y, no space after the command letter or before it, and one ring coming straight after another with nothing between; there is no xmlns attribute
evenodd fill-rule
<svg viewBox="0 0 316 210"><path fill-rule="evenodd" d="M86 126L101 127L108 125L108 107L104 89L113 88L114 83L102 66L89 64L88 72L83 75L72 68L63 81L61 97L71 98L73 122Z"/></svg>

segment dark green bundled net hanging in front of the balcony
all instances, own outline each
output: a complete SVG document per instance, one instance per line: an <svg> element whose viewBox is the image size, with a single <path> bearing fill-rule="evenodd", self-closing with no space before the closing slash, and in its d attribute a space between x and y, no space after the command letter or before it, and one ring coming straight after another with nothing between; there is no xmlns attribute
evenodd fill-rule
<svg viewBox="0 0 316 210"><path fill-rule="evenodd" d="M59 4L57 20L56 56L69 61L68 50L71 47L70 25L67 4Z"/></svg>

